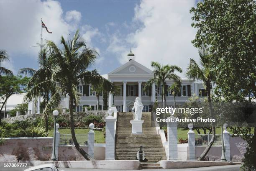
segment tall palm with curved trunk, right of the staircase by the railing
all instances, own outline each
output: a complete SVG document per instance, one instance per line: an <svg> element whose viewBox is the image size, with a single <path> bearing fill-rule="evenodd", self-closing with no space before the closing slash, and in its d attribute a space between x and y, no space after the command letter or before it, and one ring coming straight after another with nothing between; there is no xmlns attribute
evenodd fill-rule
<svg viewBox="0 0 256 171"><path fill-rule="evenodd" d="M208 94L208 103L209 103L209 112L210 117L212 117L213 111L212 111L212 104L211 104L211 83L215 80L214 73L210 70L210 67L212 65L210 60L210 54L206 49L201 49L198 51L200 56L200 64L197 64L197 62L194 59L190 59L190 64L187 67L187 73L185 74L190 79L195 80L201 80L204 82L206 86L206 91ZM212 125L212 138L209 142L209 145L205 148L205 151L201 154L201 156L198 158L198 160L204 160L207 153L210 151L210 148L215 140L215 126Z"/></svg>

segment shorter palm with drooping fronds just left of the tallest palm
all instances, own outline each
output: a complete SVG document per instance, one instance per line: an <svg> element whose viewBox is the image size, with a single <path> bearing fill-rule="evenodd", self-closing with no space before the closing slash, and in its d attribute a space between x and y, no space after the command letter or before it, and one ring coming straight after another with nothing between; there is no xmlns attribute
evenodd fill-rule
<svg viewBox="0 0 256 171"><path fill-rule="evenodd" d="M19 71L20 74L31 76L31 79L28 82L28 92L26 93L24 100L29 102L32 99L43 97L43 103L47 104L50 100L49 95L56 92L56 83L53 83L53 80L51 80L54 65L49 59L49 56L47 56L47 51L45 48L38 54L38 63L40 64L40 68L38 70L33 68L23 68ZM49 86L49 84L53 85ZM51 108L54 107L57 107L57 105L51 106ZM43 110L46 132L48 131L48 113L50 112L51 110L49 108L48 110Z"/></svg>

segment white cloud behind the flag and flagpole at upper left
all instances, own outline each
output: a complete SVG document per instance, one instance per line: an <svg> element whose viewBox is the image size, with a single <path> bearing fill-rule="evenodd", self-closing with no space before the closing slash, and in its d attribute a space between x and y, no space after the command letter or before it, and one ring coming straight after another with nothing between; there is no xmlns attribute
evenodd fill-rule
<svg viewBox="0 0 256 171"><path fill-rule="evenodd" d="M12 57L9 64L6 63L10 68L13 68L15 57L32 56L33 60L37 59L40 48L30 46L40 43L40 18L52 32L47 33L42 28L43 43L51 40L59 44L61 36L67 37L77 29L76 23L81 19L81 14L75 10L68 11L65 20L61 4L53 0L0 1L0 48L7 50Z"/></svg>

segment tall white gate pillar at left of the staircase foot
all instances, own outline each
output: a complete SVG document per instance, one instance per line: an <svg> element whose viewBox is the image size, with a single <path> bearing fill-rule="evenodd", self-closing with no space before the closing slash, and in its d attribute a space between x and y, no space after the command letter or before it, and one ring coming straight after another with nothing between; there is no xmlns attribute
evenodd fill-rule
<svg viewBox="0 0 256 171"><path fill-rule="evenodd" d="M106 117L105 160L115 160L115 122L113 116Z"/></svg>

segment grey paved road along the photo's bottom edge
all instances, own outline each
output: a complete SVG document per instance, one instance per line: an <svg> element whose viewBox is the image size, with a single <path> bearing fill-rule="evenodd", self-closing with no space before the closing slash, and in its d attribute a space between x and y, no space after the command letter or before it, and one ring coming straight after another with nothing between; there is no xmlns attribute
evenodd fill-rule
<svg viewBox="0 0 256 171"><path fill-rule="evenodd" d="M172 169L151 169L150 171L239 171L240 164L229 166L212 166L202 168L172 168ZM118 169L84 169L84 168L58 168L59 171L141 171L141 170L118 170ZM23 169L5 169L0 171L23 171Z"/></svg>

